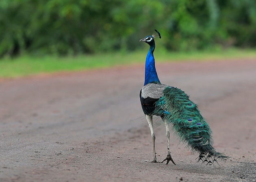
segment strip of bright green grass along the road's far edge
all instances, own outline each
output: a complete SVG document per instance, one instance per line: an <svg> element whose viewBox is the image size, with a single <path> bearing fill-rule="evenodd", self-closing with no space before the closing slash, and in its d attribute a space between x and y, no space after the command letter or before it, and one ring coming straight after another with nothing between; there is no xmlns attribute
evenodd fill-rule
<svg viewBox="0 0 256 182"><path fill-rule="evenodd" d="M0 77L15 78L40 73L54 73L59 71L80 71L88 69L107 68L116 65L143 64L148 49L132 53L108 53L80 56L20 56L18 58L4 58L0 60ZM228 49L225 51L193 51L167 52L158 49L154 52L157 62L187 61L187 60L223 60L256 58L253 49Z"/></svg>

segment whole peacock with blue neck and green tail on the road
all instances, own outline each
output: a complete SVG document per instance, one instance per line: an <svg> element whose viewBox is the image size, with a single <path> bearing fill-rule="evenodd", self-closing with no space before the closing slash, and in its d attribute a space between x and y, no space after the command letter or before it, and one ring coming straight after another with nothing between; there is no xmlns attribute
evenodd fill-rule
<svg viewBox="0 0 256 182"><path fill-rule="evenodd" d="M161 34L155 30L161 39ZM180 141L186 144L191 152L198 152L198 161L206 164L218 163L218 159L228 158L225 154L217 152L213 148L213 139L211 129L200 114L197 105L193 103L189 96L179 88L161 84L158 79L155 67L154 38L157 34L146 36L141 39L150 45L145 61L145 82L140 91L141 107L151 132L153 143L153 160L146 162L159 163L156 159L155 134L153 128L153 116L160 116L165 124L167 138L167 157L161 162L171 161L175 164L170 152L170 132L169 124L173 125L174 133L180 138Z"/></svg>

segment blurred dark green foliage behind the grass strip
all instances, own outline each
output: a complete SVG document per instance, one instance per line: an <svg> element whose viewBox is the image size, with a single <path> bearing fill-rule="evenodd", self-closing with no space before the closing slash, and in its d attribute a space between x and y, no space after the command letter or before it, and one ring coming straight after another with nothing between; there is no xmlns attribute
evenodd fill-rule
<svg viewBox="0 0 256 182"><path fill-rule="evenodd" d="M256 1L1 0L0 56L135 50L154 28L172 51L254 47Z"/></svg>

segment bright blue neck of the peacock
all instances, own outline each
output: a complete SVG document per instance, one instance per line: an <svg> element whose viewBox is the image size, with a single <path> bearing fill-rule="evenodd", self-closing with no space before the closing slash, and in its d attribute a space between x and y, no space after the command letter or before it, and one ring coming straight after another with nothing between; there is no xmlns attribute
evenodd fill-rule
<svg viewBox="0 0 256 182"><path fill-rule="evenodd" d="M153 42L152 44L150 44L150 50L148 51L148 55L146 58L144 86L152 82L160 83L160 80L158 79L158 76L156 73L155 58L153 55L154 50L155 50L155 43Z"/></svg>

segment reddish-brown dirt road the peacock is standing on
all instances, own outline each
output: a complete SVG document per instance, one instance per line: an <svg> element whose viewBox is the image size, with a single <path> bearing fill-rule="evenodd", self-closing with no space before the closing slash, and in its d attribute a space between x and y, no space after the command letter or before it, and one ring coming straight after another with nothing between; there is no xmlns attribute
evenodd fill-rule
<svg viewBox="0 0 256 182"><path fill-rule="evenodd" d="M256 181L256 59L157 63L163 84L190 95L231 158L201 165L171 135L177 165L152 159L139 103L144 66L0 81L0 182ZM159 121L159 118L156 118ZM156 124L156 152L167 154Z"/></svg>

